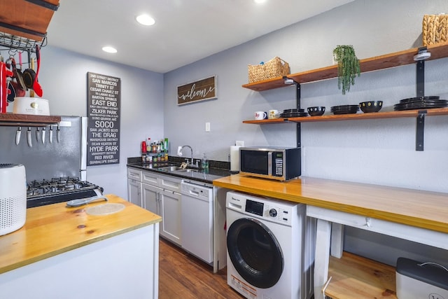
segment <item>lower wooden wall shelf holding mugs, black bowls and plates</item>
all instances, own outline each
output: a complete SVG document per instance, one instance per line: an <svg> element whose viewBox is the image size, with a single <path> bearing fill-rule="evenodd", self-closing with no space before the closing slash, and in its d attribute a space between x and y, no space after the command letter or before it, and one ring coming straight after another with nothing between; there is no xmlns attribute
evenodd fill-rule
<svg viewBox="0 0 448 299"><path fill-rule="evenodd" d="M419 109L406 111L386 111L374 113L355 113L355 114L339 114L328 116L307 116L302 118L274 118L267 120L243 120L243 123L252 123L255 125L274 124L274 123L311 123L321 121L334 120L365 120L377 118L416 118L419 111L426 111L426 116L445 116L448 115L448 108L436 109Z"/></svg>

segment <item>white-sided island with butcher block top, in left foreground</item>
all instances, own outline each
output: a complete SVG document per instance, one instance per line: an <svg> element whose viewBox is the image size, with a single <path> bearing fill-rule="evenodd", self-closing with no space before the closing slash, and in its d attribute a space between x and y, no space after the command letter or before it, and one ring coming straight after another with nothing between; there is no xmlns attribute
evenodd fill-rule
<svg viewBox="0 0 448 299"><path fill-rule="evenodd" d="M25 225L0 237L2 297L157 298L162 218L106 197L27 209Z"/></svg>

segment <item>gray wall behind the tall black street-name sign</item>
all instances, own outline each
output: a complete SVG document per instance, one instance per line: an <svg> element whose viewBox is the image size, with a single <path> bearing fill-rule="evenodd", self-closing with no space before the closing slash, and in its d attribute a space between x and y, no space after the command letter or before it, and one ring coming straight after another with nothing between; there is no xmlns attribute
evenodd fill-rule
<svg viewBox="0 0 448 299"><path fill-rule="evenodd" d="M120 164L87 167L87 181L127 198L127 158L140 155L145 138L164 136L163 75L46 46L38 79L50 114L87 116L87 71L121 78Z"/></svg>

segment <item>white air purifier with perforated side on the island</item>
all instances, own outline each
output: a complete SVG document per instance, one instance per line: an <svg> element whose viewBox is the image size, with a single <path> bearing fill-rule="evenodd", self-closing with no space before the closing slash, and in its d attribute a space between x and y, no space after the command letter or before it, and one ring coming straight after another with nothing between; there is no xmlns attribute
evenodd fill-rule
<svg viewBox="0 0 448 299"><path fill-rule="evenodd" d="M14 232L27 218L25 166L0 164L0 236Z"/></svg>

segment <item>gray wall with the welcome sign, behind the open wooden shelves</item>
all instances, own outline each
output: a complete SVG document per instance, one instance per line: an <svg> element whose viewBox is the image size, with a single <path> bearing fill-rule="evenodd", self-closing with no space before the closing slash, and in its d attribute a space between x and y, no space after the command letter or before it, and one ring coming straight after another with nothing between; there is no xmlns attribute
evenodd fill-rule
<svg viewBox="0 0 448 299"><path fill-rule="evenodd" d="M387 8L387 9L385 9ZM309 20L207 57L165 74L165 134L172 145L190 144L195 155L227 160L235 140L247 146L295 145L295 125L248 125L253 111L295 106L295 88L254 92L247 64L279 56L297 73L332 64L332 49L352 44L358 58L421 46L425 13L446 1L353 1ZM216 36L216 38L220 38ZM426 95L448 97L448 59L426 62ZM176 105L176 86L216 74L218 99ZM414 64L361 74L342 95L337 79L302 85L302 107L358 104L381 99L384 111L416 96ZM448 192L448 117L426 119L425 151L415 151L414 118L302 124L302 174L328 179ZM206 122L211 132L204 132Z"/></svg>

